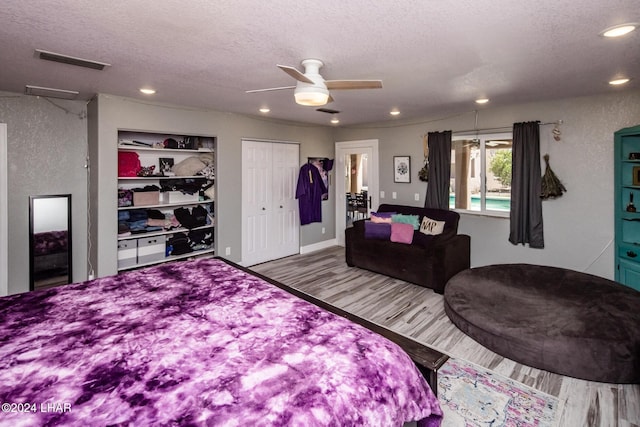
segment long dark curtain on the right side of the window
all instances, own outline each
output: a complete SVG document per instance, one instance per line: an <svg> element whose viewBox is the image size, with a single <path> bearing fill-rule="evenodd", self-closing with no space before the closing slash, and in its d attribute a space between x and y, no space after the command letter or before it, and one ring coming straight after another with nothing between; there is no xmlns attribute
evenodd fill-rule
<svg viewBox="0 0 640 427"><path fill-rule="evenodd" d="M540 125L513 124L511 212L509 241L544 248L542 230L542 177L540 171Z"/></svg>

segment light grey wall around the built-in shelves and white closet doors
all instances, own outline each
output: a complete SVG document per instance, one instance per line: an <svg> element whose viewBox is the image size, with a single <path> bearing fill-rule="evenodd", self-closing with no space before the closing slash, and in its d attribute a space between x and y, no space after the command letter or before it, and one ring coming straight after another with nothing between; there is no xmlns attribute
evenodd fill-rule
<svg viewBox="0 0 640 427"><path fill-rule="evenodd" d="M119 129L217 137L216 246L231 248L232 261L241 256L242 139L300 142L300 162L307 157L332 157L332 129L264 120L219 111L150 104L111 95L98 95L89 105L91 199L94 244L91 255L96 277L117 270L117 132ZM95 179L93 177L95 176ZM334 189L331 189L334 191ZM333 198L333 193L330 194ZM301 227L300 245L334 235L333 204L324 203L322 223ZM321 234L322 227L327 230Z"/></svg>

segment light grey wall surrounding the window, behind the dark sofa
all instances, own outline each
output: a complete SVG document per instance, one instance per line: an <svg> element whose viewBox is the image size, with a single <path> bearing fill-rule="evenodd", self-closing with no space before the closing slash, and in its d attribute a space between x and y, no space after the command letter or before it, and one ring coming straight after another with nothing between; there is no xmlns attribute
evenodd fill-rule
<svg viewBox="0 0 640 427"><path fill-rule="evenodd" d="M640 123L640 92L564 99L554 102L481 108L478 127L511 126L514 122L561 119L562 141L551 137L551 126L541 128L541 155L568 191L543 202L545 248L530 249L508 242L509 220L463 214L459 231L471 236L471 264L524 262L553 265L614 278L613 133ZM430 131L474 128L473 111L453 118L425 118L421 122L374 124L341 128L336 139L380 140L381 203L424 205L426 183L418 180L422 167L422 135ZM390 126L391 124L391 126ZM411 184L395 184L394 155L411 155ZM544 162L542 162L544 173ZM398 198L391 199L396 191ZM414 194L420 201L414 201Z"/></svg>

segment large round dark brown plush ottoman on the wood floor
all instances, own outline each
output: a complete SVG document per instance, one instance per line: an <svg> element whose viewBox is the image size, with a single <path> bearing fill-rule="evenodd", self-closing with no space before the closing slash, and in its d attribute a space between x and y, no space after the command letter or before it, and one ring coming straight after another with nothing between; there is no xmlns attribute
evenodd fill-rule
<svg viewBox="0 0 640 427"><path fill-rule="evenodd" d="M464 270L444 308L488 349L546 371L640 382L640 292L590 274L530 264Z"/></svg>

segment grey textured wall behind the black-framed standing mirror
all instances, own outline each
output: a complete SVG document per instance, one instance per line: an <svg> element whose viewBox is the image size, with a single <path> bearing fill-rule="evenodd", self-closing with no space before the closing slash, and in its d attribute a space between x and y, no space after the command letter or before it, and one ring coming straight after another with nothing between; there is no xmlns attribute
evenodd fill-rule
<svg viewBox="0 0 640 427"><path fill-rule="evenodd" d="M7 124L9 294L29 290L29 196L71 194L73 279L86 278L84 117L84 102L0 94L0 122Z"/></svg>

